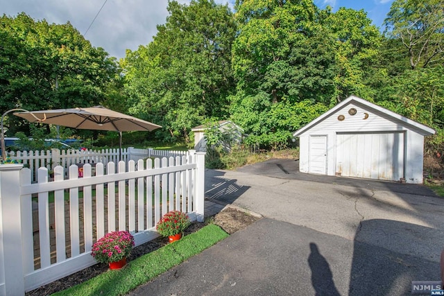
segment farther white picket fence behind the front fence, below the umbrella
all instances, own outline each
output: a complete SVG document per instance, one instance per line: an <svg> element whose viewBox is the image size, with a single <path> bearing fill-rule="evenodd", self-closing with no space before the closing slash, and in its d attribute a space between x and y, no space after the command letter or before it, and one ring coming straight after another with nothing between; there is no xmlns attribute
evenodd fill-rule
<svg viewBox="0 0 444 296"><path fill-rule="evenodd" d="M156 150L153 148L123 148L119 153L119 149L102 149L102 150L35 150L35 151L12 151L8 153L8 157L12 160L24 164L33 171L31 176L32 182L38 179L37 169L40 167L48 168L53 171L56 166L65 168L65 177L69 166L76 164L82 166L83 164L95 164L101 162L107 169L108 162L117 163L123 161L127 164L130 160L137 162L139 159L147 159L149 157L177 157L195 153L195 150L178 151L178 150ZM119 159L121 157L121 159Z"/></svg>

